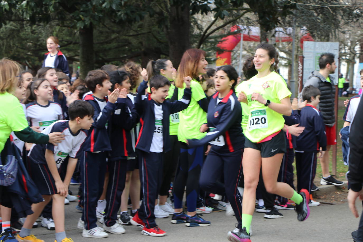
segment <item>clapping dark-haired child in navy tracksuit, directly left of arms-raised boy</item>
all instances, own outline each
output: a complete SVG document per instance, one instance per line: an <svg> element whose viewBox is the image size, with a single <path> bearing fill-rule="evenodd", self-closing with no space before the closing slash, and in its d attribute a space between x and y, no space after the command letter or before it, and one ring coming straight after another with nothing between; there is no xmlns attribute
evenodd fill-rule
<svg viewBox="0 0 363 242"><path fill-rule="evenodd" d="M130 90L130 78L125 71L112 71L110 73L111 90L120 89L124 92L123 98L118 98L115 103L115 111L111 115L108 128L111 151L108 156L109 182L106 193L106 209L103 218L103 227L113 234L125 232L122 226L117 223L117 212L121 205L121 195L125 188L127 157L135 157L135 152L131 143L130 130L138 122L139 115L133 105L127 105L127 92ZM131 100L130 100L131 102ZM131 113L129 113L131 108ZM102 221L102 219L101 219Z"/></svg>

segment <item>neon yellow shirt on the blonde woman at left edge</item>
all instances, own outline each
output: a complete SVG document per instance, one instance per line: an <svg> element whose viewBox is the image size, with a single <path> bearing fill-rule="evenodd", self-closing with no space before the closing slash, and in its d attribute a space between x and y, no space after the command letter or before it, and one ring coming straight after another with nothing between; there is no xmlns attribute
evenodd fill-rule
<svg viewBox="0 0 363 242"><path fill-rule="evenodd" d="M0 152L4 149L11 131L22 131L27 128L24 109L19 100L12 94L5 92L0 94Z"/></svg>

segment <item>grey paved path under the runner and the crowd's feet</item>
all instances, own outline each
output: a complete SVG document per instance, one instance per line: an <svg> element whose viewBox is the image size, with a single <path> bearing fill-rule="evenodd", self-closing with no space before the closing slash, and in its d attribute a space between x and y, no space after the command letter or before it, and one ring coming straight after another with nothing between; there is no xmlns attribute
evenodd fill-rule
<svg viewBox="0 0 363 242"><path fill-rule="evenodd" d="M72 190L76 190L72 187ZM357 202L359 207L360 202ZM203 218L212 222L206 227L186 227L184 224L172 224L169 218L157 218L159 227L167 232L165 237L142 235L136 226L124 226L125 234L110 234L108 238L83 238L77 229L81 213L76 210L77 202L66 205L66 232L74 242L113 242L113 241L161 241L161 242L222 242L227 241L227 232L234 229L234 217L225 216L225 212L204 214ZM284 218L265 219L263 213L254 213L252 221L253 242L352 242L351 231L358 228L359 218L350 213L347 203L339 205L320 205L310 207L310 217L305 222L298 222L294 210L280 210ZM359 208L362 211L362 208ZM54 241L54 231L37 228L33 233L46 242Z"/></svg>

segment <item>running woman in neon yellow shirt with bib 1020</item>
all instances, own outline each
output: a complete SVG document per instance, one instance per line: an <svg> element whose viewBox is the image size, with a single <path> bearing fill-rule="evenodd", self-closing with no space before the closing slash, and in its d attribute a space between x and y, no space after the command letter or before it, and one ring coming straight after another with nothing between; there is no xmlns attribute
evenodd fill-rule
<svg viewBox="0 0 363 242"><path fill-rule="evenodd" d="M291 114L291 92L285 80L275 72L278 54L274 46L266 43L258 45L253 63L258 74L241 83L242 92L238 96L238 101L248 104L250 111L242 159L245 181L242 229L237 233L229 232L229 241L251 241L249 230L260 168L267 192L293 200L299 221L306 220L310 214L306 189L297 193L288 184L277 182L282 157L286 152L284 132L281 132L285 122L282 115Z"/></svg>

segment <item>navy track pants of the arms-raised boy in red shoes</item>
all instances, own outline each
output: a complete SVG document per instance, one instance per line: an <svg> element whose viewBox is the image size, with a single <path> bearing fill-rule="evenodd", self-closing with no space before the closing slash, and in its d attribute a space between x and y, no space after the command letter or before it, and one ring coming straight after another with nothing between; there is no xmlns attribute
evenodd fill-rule
<svg viewBox="0 0 363 242"><path fill-rule="evenodd" d="M139 218L142 219L147 228L153 228L156 226L154 208L163 178L164 153L147 153L139 149L137 152L143 195L142 204L139 208Z"/></svg>

